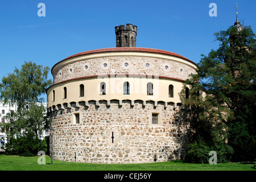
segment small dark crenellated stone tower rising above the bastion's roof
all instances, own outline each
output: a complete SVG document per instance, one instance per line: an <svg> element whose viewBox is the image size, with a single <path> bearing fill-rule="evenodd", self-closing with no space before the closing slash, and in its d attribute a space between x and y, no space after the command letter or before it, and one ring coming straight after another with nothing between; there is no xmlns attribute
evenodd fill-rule
<svg viewBox="0 0 256 182"><path fill-rule="evenodd" d="M116 26L117 47L136 47L137 26L132 24Z"/></svg>

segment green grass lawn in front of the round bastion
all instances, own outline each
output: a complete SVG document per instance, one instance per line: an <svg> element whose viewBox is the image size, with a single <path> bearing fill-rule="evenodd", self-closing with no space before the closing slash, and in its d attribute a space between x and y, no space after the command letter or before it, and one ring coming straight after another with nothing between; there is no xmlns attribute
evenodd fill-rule
<svg viewBox="0 0 256 182"><path fill-rule="evenodd" d="M22 157L0 155L0 171L256 171L252 163L191 164L182 161L146 164L91 164L53 160L46 156L46 164L37 163L39 156Z"/></svg>

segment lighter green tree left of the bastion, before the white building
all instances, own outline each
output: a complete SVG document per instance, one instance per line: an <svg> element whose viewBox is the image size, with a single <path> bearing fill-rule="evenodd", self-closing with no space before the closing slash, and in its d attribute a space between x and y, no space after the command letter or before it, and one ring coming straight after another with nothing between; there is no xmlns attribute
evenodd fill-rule
<svg viewBox="0 0 256 182"><path fill-rule="evenodd" d="M35 138L41 135L45 120L43 94L51 85L51 80L47 80L48 72L48 67L43 68L42 65L29 61L21 69L15 68L14 73L2 78L2 100L10 105L17 105L16 111L7 113L10 122L3 123L10 147L13 147L11 141L21 137L21 131L27 139L31 138L31 133Z"/></svg>

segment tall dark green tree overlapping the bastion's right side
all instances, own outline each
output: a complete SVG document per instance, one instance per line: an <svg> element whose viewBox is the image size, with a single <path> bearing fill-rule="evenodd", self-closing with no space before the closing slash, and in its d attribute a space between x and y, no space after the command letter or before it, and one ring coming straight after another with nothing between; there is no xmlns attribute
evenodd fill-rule
<svg viewBox="0 0 256 182"><path fill-rule="evenodd" d="M250 27L215 33L217 50L202 55L181 97L190 108L191 143L227 148L233 160L256 158L256 40ZM190 97L185 98L185 88ZM213 147L214 148L214 147ZM223 152L222 152L223 153ZM224 152L225 153L225 152ZM218 154L218 152L217 152Z"/></svg>

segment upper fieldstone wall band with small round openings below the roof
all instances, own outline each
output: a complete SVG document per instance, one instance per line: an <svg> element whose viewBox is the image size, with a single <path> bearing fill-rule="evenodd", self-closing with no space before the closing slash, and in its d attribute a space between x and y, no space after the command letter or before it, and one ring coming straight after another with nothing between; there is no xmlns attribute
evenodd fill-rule
<svg viewBox="0 0 256 182"><path fill-rule="evenodd" d="M149 74L186 80L195 69L187 64L141 56L98 57L63 65L53 73L54 84L83 76L101 74Z"/></svg>

